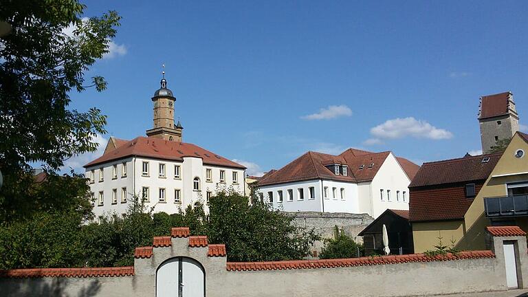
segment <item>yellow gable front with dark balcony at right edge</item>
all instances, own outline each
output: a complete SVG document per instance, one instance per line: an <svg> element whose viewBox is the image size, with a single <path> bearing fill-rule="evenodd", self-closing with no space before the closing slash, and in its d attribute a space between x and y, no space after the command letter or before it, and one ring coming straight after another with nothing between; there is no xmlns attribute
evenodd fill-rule
<svg viewBox="0 0 528 297"><path fill-rule="evenodd" d="M518 225L528 230L528 135L511 138L494 170L464 216L465 250L485 248L487 225Z"/></svg>

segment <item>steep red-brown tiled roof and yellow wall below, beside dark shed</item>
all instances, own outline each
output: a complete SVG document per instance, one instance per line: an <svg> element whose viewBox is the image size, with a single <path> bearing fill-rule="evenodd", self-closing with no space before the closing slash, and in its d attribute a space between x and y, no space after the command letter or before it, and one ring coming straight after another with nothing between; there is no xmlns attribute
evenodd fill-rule
<svg viewBox="0 0 528 297"><path fill-rule="evenodd" d="M466 232L464 215L501 153L423 163L409 185L409 221L415 252L442 241L458 244Z"/></svg>

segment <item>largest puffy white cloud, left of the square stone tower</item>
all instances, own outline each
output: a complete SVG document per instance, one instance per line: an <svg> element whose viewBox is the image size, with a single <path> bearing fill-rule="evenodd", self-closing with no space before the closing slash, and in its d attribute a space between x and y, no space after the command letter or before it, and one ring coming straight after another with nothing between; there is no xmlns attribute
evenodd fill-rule
<svg viewBox="0 0 528 297"><path fill-rule="evenodd" d="M424 120L415 118L395 118L371 128L371 134L377 138L396 139L407 136L429 138L432 140L450 139L453 134L445 129L438 129Z"/></svg>

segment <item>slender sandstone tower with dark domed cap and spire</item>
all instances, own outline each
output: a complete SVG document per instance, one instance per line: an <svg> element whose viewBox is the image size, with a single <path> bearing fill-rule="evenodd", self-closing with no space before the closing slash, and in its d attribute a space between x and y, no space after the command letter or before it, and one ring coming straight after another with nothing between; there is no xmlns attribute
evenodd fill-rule
<svg viewBox="0 0 528 297"><path fill-rule="evenodd" d="M154 128L146 131L148 137L161 138L181 142L181 133L184 129L178 121L174 124L174 103L176 98L173 91L167 89L165 72L161 81L162 87L155 91L152 101L154 102Z"/></svg>

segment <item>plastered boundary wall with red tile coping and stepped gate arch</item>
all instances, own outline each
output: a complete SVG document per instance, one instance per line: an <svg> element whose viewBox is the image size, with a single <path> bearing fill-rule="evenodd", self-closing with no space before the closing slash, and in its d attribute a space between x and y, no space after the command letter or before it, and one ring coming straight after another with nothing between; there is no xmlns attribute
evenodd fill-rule
<svg viewBox="0 0 528 297"><path fill-rule="evenodd" d="M160 265L174 257L188 257L203 266L208 297L423 296L500 291L507 289L500 252L503 241L517 241L521 251L518 263L523 268L528 265L526 238L518 235L494 236L489 241L493 250L457 255L229 263L223 245L209 245L205 236L188 236L188 229L179 228L173 236L155 238L152 247L137 248L134 267L0 271L0 288L2 296L154 297ZM521 287L527 283L522 281L526 273L519 270ZM174 292L177 296L177 288Z"/></svg>

